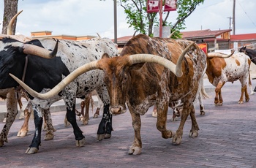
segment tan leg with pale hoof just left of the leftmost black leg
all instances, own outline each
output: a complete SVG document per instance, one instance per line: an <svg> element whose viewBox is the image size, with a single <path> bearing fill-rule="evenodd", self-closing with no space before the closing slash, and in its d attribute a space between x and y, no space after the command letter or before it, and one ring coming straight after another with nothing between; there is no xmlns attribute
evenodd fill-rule
<svg viewBox="0 0 256 168"><path fill-rule="evenodd" d="M33 111L32 104L31 102L28 102L24 110L24 122L20 128L20 131L18 131L17 137L26 137L26 134L29 131L29 118L32 111Z"/></svg>

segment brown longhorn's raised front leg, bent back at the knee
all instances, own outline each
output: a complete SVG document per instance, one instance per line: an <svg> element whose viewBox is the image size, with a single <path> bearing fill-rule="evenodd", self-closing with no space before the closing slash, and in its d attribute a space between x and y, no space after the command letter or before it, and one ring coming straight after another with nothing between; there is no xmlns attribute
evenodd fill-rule
<svg viewBox="0 0 256 168"><path fill-rule="evenodd" d="M173 132L166 129L168 102L157 104L157 129L162 133L162 137L167 139L173 137Z"/></svg>

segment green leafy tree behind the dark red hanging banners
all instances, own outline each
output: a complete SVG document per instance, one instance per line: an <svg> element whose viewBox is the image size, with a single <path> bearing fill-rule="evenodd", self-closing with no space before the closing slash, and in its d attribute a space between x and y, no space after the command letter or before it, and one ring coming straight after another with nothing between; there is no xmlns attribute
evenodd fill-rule
<svg viewBox="0 0 256 168"><path fill-rule="evenodd" d="M100 0L105 1L105 0ZM162 26L170 26L173 37L180 37L180 30L186 28L185 19L192 14L198 4L203 4L204 0L177 0L177 13L178 17L176 22L168 22L170 12L164 12L162 18ZM129 27L135 29L135 34L153 35L153 27L159 26L159 13L146 12L146 0L119 0L119 4L124 8L127 14L127 23ZM165 4L165 0L163 0Z"/></svg>

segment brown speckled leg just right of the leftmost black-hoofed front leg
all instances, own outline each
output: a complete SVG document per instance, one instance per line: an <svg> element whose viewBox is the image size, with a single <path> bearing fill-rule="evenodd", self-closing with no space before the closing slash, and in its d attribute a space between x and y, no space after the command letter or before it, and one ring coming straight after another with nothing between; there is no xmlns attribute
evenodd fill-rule
<svg viewBox="0 0 256 168"><path fill-rule="evenodd" d="M51 119L50 115L50 109L44 110L44 118L45 118L45 129L46 129L46 134L44 140L53 140L54 134L53 131L56 131L53 127L53 121Z"/></svg>

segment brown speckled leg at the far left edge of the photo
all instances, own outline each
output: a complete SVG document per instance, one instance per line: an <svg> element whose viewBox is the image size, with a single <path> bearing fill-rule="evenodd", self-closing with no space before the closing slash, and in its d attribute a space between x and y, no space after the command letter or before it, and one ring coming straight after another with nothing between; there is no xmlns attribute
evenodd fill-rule
<svg viewBox="0 0 256 168"><path fill-rule="evenodd" d="M15 91L10 91L7 93L7 121L4 124L3 129L0 134L0 147L4 145L4 142L8 142L7 136L12 126L12 123L15 121L15 117L18 114L18 100L15 99Z"/></svg>

